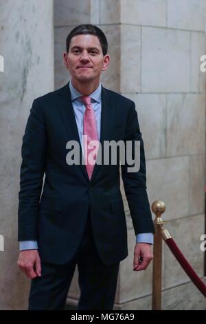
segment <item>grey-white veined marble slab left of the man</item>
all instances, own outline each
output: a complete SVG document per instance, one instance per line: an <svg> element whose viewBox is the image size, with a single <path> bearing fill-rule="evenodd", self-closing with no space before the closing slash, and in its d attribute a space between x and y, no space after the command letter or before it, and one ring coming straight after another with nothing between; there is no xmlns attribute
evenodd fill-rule
<svg viewBox="0 0 206 324"><path fill-rule="evenodd" d="M54 90L53 1L0 2L0 309L21 310L30 283L16 264L21 143L32 101Z"/></svg>

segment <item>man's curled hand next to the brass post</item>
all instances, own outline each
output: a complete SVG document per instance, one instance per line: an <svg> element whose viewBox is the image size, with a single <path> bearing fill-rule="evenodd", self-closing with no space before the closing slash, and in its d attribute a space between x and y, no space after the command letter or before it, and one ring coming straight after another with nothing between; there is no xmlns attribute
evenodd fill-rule
<svg viewBox="0 0 206 324"><path fill-rule="evenodd" d="M146 270L150 261L153 259L151 244L136 243L134 252L134 269L135 271Z"/></svg>

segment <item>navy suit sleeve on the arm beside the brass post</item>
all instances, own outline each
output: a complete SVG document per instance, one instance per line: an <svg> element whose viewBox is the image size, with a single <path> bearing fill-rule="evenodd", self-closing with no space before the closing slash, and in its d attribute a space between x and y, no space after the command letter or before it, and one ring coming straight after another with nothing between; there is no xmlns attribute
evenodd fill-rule
<svg viewBox="0 0 206 324"><path fill-rule="evenodd" d="M135 235L140 233L154 233L155 228L152 221L152 214L150 212L150 204L148 201L148 194L146 191L146 161L144 154L144 142L139 130L139 122L137 112L135 110L135 103L130 105L130 112L128 113L128 120L126 124L125 146L127 141L132 143L132 158L135 158L135 141L140 143L140 167L138 171L128 172L128 168L133 165L124 163L122 168L122 180L124 183L124 190L130 215L133 221ZM125 159L125 161L127 161Z"/></svg>

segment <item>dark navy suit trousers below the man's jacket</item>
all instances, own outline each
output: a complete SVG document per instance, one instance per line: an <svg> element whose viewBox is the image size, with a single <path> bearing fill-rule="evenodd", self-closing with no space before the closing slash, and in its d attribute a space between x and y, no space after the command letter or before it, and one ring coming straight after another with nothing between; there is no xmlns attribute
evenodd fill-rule
<svg viewBox="0 0 206 324"><path fill-rule="evenodd" d="M113 310L119 263L104 265L100 260L89 214L73 259L65 265L41 263L41 277L31 281L29 310L64 310L76 265L80 287L78 310Z"/></svg>

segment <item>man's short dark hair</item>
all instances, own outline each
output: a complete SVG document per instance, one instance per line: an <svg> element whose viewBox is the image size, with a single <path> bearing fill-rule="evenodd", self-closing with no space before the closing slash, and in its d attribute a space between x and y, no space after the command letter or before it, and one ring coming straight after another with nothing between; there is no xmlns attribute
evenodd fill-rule
<svg viewBox="0 0 206 324"><path fill-rule="evenodd" d="M100 30L100 28L98 28L97 26L91 25L90 23L87 25L76 26L75 28L73 28L73 30L71 30L71 32L67 36L67 40L66 40L67 53L69 52L69 45L71 43L72 37L81 35L81 34L91 34L91 35L97 36L100 41L100 44L102 46L103 55L107 54L108 42L107 42L104 32L102 32L102 30Z"/></svg>

